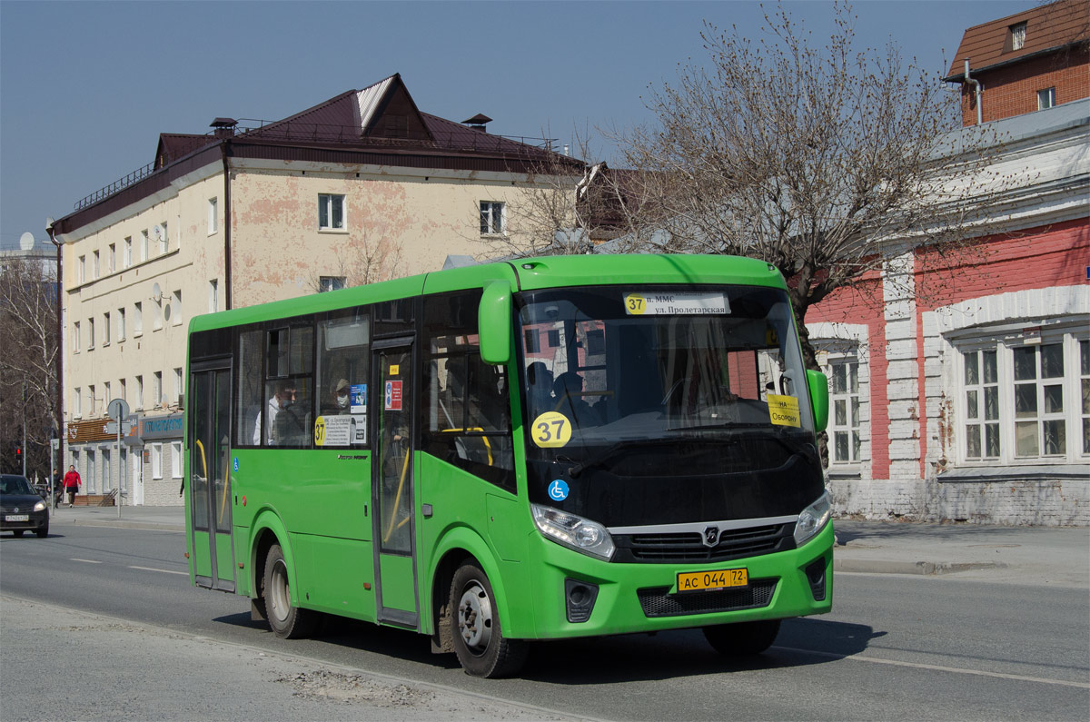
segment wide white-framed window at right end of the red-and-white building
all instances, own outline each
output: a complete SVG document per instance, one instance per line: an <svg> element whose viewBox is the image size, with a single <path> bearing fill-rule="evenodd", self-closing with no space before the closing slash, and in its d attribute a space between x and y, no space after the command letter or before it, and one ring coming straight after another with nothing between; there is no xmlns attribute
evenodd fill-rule
<svg viewBox="0 0 1090 722"><path fill-rule="evenodd" d="M1046 464L1090 458L1090 340L1050 329L959 345L961 458Z"/></svg>

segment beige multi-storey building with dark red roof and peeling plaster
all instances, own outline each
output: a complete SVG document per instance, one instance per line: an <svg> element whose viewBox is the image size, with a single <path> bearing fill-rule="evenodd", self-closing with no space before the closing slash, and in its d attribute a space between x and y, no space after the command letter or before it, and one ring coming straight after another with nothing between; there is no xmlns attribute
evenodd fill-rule
<svg viewBox="0 0 1090 722"><path fill-rule="evenodd" d="M443 267L508 238L547 143L421 112L399 75L290 118L162 134L155 160L52 224L63 244L65 466L83 492L181 504L189 320ZM516 240L517 239L512 239ZM131 408L120 453L111 399Z"/></svg>

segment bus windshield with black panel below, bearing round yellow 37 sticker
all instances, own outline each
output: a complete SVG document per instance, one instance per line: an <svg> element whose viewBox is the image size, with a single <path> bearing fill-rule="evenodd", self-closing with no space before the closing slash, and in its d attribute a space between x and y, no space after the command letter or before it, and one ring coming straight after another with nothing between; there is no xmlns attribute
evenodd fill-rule
<svg viewBox="0 0 1090 722"><path fill-rule="evenodd" d="M783 290L568 288L518 303L534 503L641 525L798 514L821 493ZM570 495L549 495L555 479Z"/></svg>

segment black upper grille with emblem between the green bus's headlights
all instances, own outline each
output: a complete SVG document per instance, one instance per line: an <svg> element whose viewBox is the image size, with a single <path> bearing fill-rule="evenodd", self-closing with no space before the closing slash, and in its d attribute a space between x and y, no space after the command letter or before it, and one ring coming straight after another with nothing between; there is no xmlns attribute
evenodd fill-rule
<svg viewBox="0 0 1090 722"><path fill-rule="evenodd" d="M724 531L719 543L704 546L698 532L666 534L616 534L617 553L614 562L652 564L723 562L744 556L772 554L795 547L795 525L776 524L766 527Z"/></svg>

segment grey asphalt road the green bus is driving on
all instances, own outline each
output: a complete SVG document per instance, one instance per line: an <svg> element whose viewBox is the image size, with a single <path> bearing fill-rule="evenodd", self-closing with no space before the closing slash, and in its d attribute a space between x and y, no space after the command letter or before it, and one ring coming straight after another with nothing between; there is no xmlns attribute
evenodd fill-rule
<svg viewBox="0 0 1090 722"><path fill-rule="evenodd" d="M178 532L64 525L55 525L48 540L0 538L4 659L12 658L10 642L22 647L35 638L22 623L12 627L33 609L46 615L39 639L64 633L40 661L51 671L44 674L90 675L102 685L93 702L76 697L58 714L40 715L23 709L32 703L27 697L13 694L9 662L0 675L3 718L143 719L164 702L172 711L159 714L164 719L268 720L401 719L401 712L415 719L1085 720L1090 709L1085 588L840 574L832 614L785 623L772 650L744 664L723 661L690 630L537 645L520 678L485 681L463 674L452 655L431 654L424 637L351 621L327 623L317 639L279 640L250 621L245 599L190 587L183 543ZM13 615L13 605L23 606L19 600L52 606ZM76 624L72 615L80 613L69 610L113 619ZM126 638L129 628L140 630L141 643ZM117 662L74 653L112 638L104 629L116 629L121 640L109 652ZM152 673L141 651L148 648L161 648L157 659L181 657L169 672ZM24 664L23 676L31 674ZM184 694L153 695L164 674ZM356 691L346 677L356 681ZM220 690L216 683L223 679L238 685ZM361 684L379 691L361 697ZM126 706L125 714L110 710L111 690L136 706ZM280 701L240 714L217 703L214 693L254 705ZM409 701L397 701L399 695ZM373 698L387 706L376 708ZM179 707L179 699L192 706ZM337 706L323 707L330 699Z"/></svg>

